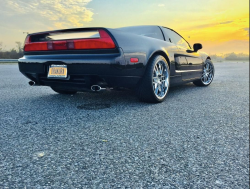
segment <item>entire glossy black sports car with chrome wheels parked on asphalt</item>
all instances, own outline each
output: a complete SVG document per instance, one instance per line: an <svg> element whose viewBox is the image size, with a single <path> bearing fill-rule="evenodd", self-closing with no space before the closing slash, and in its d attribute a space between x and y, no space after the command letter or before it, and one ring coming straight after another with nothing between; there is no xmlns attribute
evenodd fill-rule
<svg viewBox="0 0 250 189"><path fill-rule="evenodd" d="M213 81L213 63L200 49L161 26L78 28L29 34L18 64L30 85L61 94L128 88L162 102L170 85Z"/></svg>

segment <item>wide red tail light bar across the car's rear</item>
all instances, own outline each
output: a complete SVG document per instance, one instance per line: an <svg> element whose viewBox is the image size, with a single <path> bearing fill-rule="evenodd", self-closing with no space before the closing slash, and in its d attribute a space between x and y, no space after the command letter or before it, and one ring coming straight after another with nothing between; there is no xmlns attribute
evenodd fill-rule
<svg viewBox="0 0 250 189"><path fill-rule="evenodd" d="M115 43L105 30L99 30L100 38L70 39L46 42L31 42L31 36L25 40L24 51L57 51L57 50L87 50L114 49Z"/></svg>

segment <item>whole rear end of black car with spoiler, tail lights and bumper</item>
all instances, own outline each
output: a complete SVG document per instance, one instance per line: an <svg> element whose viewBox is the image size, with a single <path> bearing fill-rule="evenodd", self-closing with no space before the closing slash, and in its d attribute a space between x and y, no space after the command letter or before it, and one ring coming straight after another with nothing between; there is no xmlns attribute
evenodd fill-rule
<svg viewBox="0 0 250 189"><path fill-rule="evenodd" d="M134 88L144 71L129 69L122 48L106 28L30 34L18 64L31 85L75 91L93 85Z"/></svg>

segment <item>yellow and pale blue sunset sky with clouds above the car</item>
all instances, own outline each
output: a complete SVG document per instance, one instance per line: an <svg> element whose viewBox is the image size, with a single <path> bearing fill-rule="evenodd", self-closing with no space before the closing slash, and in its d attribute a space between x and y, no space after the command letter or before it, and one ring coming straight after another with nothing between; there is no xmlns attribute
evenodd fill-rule
<svg viewBox="0 0 250 189"><path fill-rule="evenodd" d="M160 25L209 54L249 54L249 0L0 0L0 42L64 28Z"/></svg>

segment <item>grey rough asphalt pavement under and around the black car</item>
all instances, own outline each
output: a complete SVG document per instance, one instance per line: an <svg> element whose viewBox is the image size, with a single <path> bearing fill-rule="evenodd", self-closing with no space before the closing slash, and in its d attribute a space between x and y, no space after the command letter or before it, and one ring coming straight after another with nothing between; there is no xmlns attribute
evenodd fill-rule
<svg viewBox="0 0 250 189"><path fill-rule="evenodd" d="M0 64L0 188L249 188L249 63L209 87L59 95Z"/></svg>

